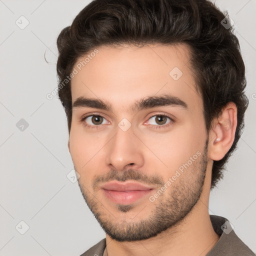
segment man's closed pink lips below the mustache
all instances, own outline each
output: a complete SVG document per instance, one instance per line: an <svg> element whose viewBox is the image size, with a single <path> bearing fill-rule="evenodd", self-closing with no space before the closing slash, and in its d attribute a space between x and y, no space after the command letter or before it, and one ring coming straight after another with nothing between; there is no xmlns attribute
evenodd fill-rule
<svg viewBox="0 0 256 256"><path fill-rule="evenodd" d="M111 181L103 184L101 190L108 199L118 204L131 204L150 193L154 188L138 182Z"/></svg>

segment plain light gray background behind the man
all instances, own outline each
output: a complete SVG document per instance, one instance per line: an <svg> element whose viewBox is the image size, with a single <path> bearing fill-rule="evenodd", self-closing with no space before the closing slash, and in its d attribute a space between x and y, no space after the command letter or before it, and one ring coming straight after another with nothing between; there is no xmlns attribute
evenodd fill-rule
<svg viewBox="0 0 256 256"><path fill-rule="evenodd" d="M0 0L1 256L80 255L104 238L77 182L66 176L73 164L64 110L56 97L46 98L57 85L57 35L88 2ZM256 252L256 0L216 4L234 20L250 102L239 148L211 192L209 213L228 218ZM21 15L29 21L24 29L15 24ZM29 125L23 131L16 127L21 118ZM29 226L24 234L15 228L25 228L21 220Z"/></svg>

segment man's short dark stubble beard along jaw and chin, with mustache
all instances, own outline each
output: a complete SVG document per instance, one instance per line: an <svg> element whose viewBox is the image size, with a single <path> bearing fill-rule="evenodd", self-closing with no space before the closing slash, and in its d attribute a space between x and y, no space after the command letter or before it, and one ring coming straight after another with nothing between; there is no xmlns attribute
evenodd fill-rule
<svg viewBox="0 0 256 256"><path fill-rule="evenodd" d="M154 202L150 202L148 200L148 204L154 203L155 207L149 213L149 216L140 221L127 221L125 217L122 221L118 221L118 215L120 213L113 212L110 208L107 209L107 204L104 201L101 203L96 198L95 190L94 193L91 193L82 184L80 184L78 180L79 188L89 209L92 211L106 234L108 234L112 239L116 241L137 241L148 239L174 225L178 225L188 215L188 213L191 212L192 208L197 203L200 198L205 179L208 160L207 146L208 138L205 142L203 154L200 155L200 157L198 157L186 170L184 170L184 172L177 177L166 191L164 191L163 194ZM143 180L144 182L150 180L151 183L156 180L158 185L163 182L161 178L149 179L132 169L128 169L123 172L116 172L112 170L104 180L125 181L127 179L138 181ZM103 178L101 177L97 180L100 181L103 180ZM167 197L164 197L165 193L168 193ZM129 212L135 207L136 206L133 204L116 204L117 211L123 213ZM139 210L141 209L138 209L138 214L134 213L133 215L139 215Z"/></svg>

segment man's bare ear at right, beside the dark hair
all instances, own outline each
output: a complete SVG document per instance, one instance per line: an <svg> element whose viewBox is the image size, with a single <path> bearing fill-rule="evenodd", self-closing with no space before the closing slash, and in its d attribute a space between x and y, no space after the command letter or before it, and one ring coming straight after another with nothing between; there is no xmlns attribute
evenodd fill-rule
<svg viewBox="0 0 256 256"><path fill-rule="evenodd" d="M237 125L237 108L228 102L221 115L213 120L209 131L208 157L218 161L222 159L233 144Z"/></svg>

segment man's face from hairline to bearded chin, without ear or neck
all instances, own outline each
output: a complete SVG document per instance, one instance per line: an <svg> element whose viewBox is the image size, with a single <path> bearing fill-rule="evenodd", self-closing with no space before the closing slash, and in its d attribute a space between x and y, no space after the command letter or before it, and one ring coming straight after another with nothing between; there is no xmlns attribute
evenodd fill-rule
<svg viewBox="0 0 256 256"><path fill-rule="evenodd" d="M88 207L118 241L166 230L201 195L208 136L188 56L184 44L101 46L75 64L68 147Z"/></svg>

